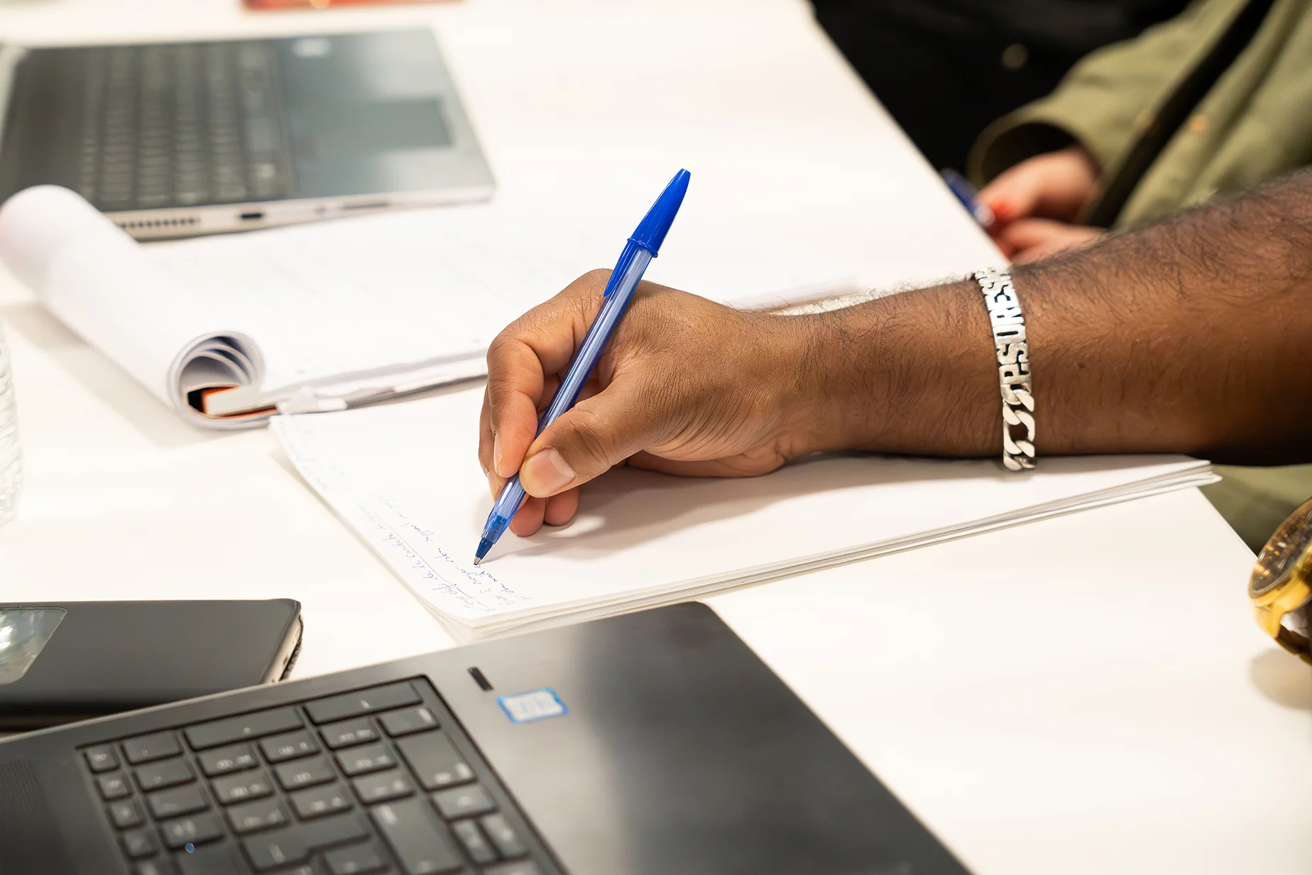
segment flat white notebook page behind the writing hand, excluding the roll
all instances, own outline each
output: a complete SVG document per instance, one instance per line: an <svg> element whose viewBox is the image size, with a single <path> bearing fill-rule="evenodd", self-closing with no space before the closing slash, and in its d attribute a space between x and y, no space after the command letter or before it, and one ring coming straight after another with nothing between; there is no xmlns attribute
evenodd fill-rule
<svg viewBox="0 0 1312 875"><path fill-rule="evenodd" d="M631 224L640 216L634 210ZM256 338L264 387L276 388L386 365L482 358L517 316L588 269L611 266L631 231L491 203L188 240L147 254ZM666 247L649 278L749 303L850 286L807 265L803 253L740 261L731 232L715 234L723 260L714 248L681 257Z"/></svg>

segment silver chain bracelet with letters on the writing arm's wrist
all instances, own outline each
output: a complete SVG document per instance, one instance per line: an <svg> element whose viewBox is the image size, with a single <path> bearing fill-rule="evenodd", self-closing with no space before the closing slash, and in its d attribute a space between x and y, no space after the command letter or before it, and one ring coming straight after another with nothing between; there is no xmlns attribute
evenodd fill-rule
<svg viewBox="0 0 1312 875"><path fill-rule="evenodd" d="M1021 299L1012 274L997 268L975 273L984 293L993 346L997 348L997 376L1002 390L1002 464L1012 471L1034 467L1034 386L1030 383L1030 345L1025 340ZM1023 426L1023 432L1013 429Z"/></svg>

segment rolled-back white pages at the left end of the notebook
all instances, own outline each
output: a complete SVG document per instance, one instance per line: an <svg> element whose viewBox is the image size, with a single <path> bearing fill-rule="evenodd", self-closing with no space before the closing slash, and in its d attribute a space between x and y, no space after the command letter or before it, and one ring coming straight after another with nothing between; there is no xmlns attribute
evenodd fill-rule
<svg viewBox="0 0 1312 875"><path fill-rule="evenodd" d="M41 185L0 207L0 260L60 321L197 425L261 425L268 411L206 416L207 391L258 386L258 346L215 317L142 247L68 189Z"/></svg>

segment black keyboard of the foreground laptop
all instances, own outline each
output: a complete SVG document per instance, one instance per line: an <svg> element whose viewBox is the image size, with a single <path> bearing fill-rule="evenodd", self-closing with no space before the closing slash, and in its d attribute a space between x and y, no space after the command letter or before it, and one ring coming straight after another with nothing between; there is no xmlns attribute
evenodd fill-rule
<svg viewBox="0 0 1312 875"><path fill-rule="evenodd" d="M135 875L547 875L425 678L81 749Z"/></svg>

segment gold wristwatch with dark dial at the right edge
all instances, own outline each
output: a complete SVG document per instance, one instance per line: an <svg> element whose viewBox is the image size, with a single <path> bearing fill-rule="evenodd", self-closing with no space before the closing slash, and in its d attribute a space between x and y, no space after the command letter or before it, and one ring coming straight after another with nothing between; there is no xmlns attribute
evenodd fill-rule
<svg viewBox="0 0 1312 875"><path fill-rule="evenodd" d="M1312 664L1312 499L1281 523L1257 555L1248 581L1257 623L1275 641Z"/></svg>

